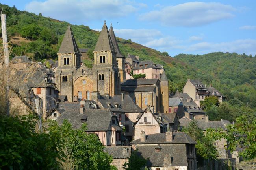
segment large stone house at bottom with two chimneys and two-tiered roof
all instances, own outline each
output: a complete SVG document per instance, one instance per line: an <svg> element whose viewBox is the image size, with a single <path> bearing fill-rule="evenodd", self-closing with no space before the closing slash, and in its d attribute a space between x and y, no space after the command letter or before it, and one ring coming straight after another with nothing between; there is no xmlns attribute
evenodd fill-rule
<svg viewBox="0 0 256 170"><path fill-rule="evenodd" d="M133 150L148 158L150 170L196 170L195 144L184 132L166 132L146 135L141 131L140 138L130 142Z"/></svg>

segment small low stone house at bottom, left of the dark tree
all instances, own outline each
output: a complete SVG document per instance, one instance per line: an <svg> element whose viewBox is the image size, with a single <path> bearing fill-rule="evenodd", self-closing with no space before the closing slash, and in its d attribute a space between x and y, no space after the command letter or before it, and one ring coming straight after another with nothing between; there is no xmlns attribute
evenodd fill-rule
<svg viewBox="0 0 256 170"><path fill-rule="evenodd" d="M104 151L113 157L111 165L117 167L118 170L124 170L122 165L128 162L132 148L131 146L106 146Z"/></svg>

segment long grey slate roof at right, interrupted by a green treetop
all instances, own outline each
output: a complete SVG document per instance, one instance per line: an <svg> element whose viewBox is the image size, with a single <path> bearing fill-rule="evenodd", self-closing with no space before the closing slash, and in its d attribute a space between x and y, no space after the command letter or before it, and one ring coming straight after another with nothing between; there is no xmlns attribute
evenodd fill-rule
<svg viewBox="0 0 256 170"><path fill-rule="evenodd" d="M186 119L182 117L180 120L180 126L188 127L189 123L192 121L191 119ZM197 125L200 129L206 130L207 128L221 128L223 130L226 130L225 125L230 124L227 120L221 120L221 121L206 121L204 120L197 120Z"/></svg>

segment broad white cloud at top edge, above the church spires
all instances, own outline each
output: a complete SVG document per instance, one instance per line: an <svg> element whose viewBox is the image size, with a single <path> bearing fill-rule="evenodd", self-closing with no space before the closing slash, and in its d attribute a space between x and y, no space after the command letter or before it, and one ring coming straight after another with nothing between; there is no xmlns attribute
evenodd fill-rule
<svg viewBox="0 0 256 170"><path fill-rule="evenodd" d="M143 4L140 4L143 5ZM128 0L46 0L32 1L26 11L42 13L58 20L80 21L102 18L118 18L137 11L134 3ZM81 22L80 22L81 23Z"/></svg>

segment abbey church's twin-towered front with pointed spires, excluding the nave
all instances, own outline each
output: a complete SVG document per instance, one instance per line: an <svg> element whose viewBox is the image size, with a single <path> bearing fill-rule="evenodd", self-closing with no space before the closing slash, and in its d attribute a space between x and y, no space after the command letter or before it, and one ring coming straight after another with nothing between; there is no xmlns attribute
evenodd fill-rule
<svg viewBox="0 0 256 170"><path fill-rule="evenodd" d="M119 51L112 26L109 33L104 23L93 53L94 65L89 69L81 62L81 53L68 26L59 48L55 76L60 95L67 95L69 102L90 100L94 92L112 97L121 94L120 82L125 78L124 57Z"/></svg>

